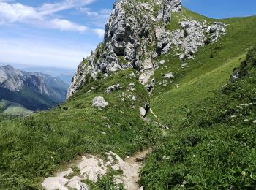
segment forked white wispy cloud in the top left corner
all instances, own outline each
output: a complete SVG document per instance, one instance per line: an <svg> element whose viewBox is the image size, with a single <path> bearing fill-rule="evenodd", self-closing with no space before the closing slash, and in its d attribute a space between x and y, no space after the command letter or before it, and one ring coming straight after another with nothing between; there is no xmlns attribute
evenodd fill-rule
<svg viewBox="0 0 256 190"><path fill-rule="evenodd" d="M86 26L69 20L54 18L54 13L91 4L95 0L65 0L59 3L42 4L41 7L30 7L20 3L9 3L0 0L0 25L6 23L27 23L45 28L56 28L61 31L86 31Z"/></svg>

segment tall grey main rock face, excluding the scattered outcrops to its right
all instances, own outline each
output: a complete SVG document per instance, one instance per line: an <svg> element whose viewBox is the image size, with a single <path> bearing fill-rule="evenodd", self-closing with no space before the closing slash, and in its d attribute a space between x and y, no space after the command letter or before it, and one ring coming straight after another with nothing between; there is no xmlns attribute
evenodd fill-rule
<svg viewBox="0 0 256 190"><path fill-rule="evenodd" d="M99 73L108 77L110 72L130 67L144 75L146 80L143 81L146 83L154 73L154 66L151 64L151 69L145 69L144 66L151 61L141 57L148 52L147 46L152 44L154 37L153 26L158 23L157 15L154 15L154 5L162 9L161 19L168 20L170 12L181 10L178 4L181 4L180 0L157 0L154 4L134 0L118 1L106 24L100 55L97 55L97 50L95 50L86 61L78 66L67 98L78 91L80 86L85 85L89 77L95 79ZM162 42L162 49L167 52L163 46L165 42ZM149 51L148 56L157 58L158 55Z"/></svg>

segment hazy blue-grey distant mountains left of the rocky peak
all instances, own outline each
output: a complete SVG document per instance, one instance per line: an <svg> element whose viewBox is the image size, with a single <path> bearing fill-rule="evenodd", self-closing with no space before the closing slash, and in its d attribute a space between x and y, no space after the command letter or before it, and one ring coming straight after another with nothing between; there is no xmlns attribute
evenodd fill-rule
<svg viewBox="0 0 256 190"><path fill-rule="evenodd" d="M15 105L26 112L48 110L64 102L67 88L69 85L58 77L25 72L10 65L0 66L0 112L7 112L10 106L15 110Z"/></svg>

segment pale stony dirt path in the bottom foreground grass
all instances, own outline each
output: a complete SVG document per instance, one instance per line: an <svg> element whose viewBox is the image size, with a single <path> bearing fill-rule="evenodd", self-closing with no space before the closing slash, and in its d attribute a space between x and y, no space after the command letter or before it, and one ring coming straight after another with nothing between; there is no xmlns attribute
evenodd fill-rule
<svg viewBox="0 0 256 190"><path fill-rule="evenodd" d="M82 160L73 165L77 169L75 172L69 168L56 174L54 177L49 177L44 180L42 187L46 190L67 190L70 188L77 190L89 190L89 186L81 181L89 179L93 182L98 180L98 177L107 174L107 168L112 167L113 170L122 170L122 175L115 176L116 183L123 183L125 189L138 190L143 189L139 186L140 168L143 166L142 161L146 155L151 152L151 149L138 152L134 156L127 158L125 161L116 153L105 153L108 157L107 161L99 159L97 156L86 155Z"/></svg>

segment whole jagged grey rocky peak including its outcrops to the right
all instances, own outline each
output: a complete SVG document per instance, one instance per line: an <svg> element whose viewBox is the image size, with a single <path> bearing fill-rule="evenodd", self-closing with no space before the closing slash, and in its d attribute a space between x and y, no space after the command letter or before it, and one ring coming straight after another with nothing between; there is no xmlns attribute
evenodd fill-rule
<svg viewBox="0 0 256 190"><path fill-rule="evenodd" d="M171 48L183 60L193 58L199 47L225 34L222 23L207 25L189 18L184 18L180 29L168 31L164 26L170 23L172 12L181 12L181 0L118 1L106 24L104 42L78 66L67 98L91 79L127 68L136 69L140 83L151 91L155 58Z"/></svg>

